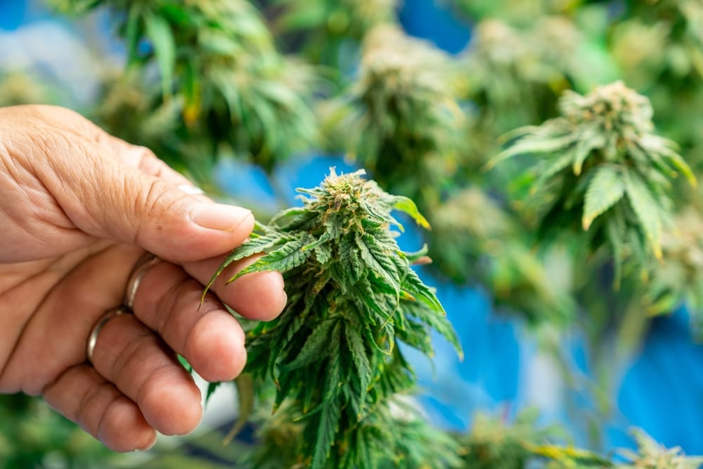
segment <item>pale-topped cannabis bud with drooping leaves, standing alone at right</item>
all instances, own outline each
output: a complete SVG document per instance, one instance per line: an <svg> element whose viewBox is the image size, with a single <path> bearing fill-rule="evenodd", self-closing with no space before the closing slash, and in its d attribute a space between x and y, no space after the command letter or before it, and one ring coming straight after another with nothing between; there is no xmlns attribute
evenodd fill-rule
<svg viewBox="0 0 703 469"><path fill-rule="evenodd" d="M617 278L626 257L646 265L650 250L661 258L671 179L681 173L696 181L675 143L654 134L647 98L615 82L586 96L566 91L559 110L539 127L514 131L489 167L539 155L526 178L528 212L546 236L580 220L592 251L610 245Z"/></svg>

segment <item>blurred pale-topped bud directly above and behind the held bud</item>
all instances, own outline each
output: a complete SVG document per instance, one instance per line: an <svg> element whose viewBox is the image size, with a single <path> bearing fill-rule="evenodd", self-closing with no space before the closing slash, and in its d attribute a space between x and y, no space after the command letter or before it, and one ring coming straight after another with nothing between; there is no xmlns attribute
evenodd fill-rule
<svg viewBox="0 0 703 469"><path fill-rule="evenodd" d="M437 203L461 160L465 117L449 64L429 43L378 27L366 37L358 81L325 110L347 156L420 207Z"/></svg>

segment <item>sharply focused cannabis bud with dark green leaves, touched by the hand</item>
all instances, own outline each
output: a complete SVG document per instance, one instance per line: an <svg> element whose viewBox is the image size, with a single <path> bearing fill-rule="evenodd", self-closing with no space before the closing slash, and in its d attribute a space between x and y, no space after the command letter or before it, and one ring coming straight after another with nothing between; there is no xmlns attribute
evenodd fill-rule
<svg viewBox="0 0 703 469"><path fill-rule="evenodd" d="M245 371L276 383L274 410L302 425L299 461L292 462L305 467L363 467L368 454L395 460L404 442L380 416L415 382L398 345L431 354L434 328L460 348L433 290L411 269L425 251L401 251L390 230L403 229L392 210L426 228L427 221L410 199L362 175L333 170L321 186L299 189L303 207L258 225L213 277L258 253L231 281L283 272L288 304L278 319L247 333Z"/></svg>

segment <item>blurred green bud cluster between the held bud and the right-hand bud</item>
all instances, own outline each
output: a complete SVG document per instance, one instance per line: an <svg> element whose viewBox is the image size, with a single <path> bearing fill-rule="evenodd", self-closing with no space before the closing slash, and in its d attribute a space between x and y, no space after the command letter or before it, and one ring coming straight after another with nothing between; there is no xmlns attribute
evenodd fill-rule
<svg viewBox="0 0 703 469"><path fill-rule="evenodd" d="M565 326L576 309L570 259L540 255L533 243L519 220L479 188L458 191L432 214L432 267L457 283L482 285L497 306L532 323Z"/></svg>

